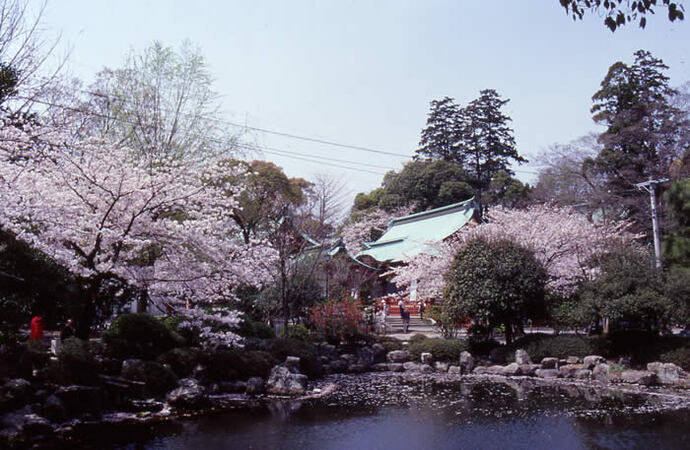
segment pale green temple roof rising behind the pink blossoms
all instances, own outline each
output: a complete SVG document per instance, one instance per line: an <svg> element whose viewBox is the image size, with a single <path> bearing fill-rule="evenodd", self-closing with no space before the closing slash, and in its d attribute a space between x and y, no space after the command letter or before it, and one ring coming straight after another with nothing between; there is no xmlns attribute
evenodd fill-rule
<svg viewBox="0 0 690 450"><path fill-rule="evenodd" d="M355 258L370 256L379 262L402 262L420 253L433 253L434 244L465 226L479 205L474 197L464 202L423 211L390 221L386 232Z"/></svg>

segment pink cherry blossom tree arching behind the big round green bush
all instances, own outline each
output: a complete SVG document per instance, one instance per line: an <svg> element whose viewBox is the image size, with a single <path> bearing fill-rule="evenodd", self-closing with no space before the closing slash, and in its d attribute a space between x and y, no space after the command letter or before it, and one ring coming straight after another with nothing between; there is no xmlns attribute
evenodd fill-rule
<svg viewBox="0 0 690 450"><path fill-rule="evenodd" d="M495 208L487 222L465 227L451 238L436 244L433 251L415 256L406 265L393 267L396 285L409 289L417 281L420 295L440 297L444 276L458 250L477 238L488 241L508 239L532 250L548 273L547 286L568 292L582 279L596 274L594 257L614 243L634 245L639 236L627 231L628 224L593 224L568 207L535 205L526 209Z"/></svg>

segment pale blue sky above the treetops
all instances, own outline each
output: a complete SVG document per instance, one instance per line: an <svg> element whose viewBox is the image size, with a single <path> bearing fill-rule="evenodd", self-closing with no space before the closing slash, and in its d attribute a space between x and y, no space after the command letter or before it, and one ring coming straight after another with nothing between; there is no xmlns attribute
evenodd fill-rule
<svg viewBox="0 0 690 450"><path fill-rule="evenodd" d="M663 59L671 85L689 81L689 24L664 13L645 30L611 33L596 14L574 22L558 0L50 0L43 26L60 34L69 71L86 84L131 50L188 39L206 59L226 120L397 154L245 135L302 154L263 157L290 176L341 179L351 198L410 159L433 99L464 105L495 89L510 100L504 112L518 152L534 160L549 145L601 131L592 94L608 67L632 63L636 50ZM515 170L534 182L534 163Z"/></svg>

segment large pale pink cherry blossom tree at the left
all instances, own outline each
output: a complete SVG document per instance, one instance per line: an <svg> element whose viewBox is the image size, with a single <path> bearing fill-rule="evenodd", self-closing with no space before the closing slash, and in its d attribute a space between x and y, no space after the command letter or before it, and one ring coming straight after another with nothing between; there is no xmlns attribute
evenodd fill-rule
<svg viewBox="0 0 690 450"><path fill-rule="evenodd" d="M256 262L275 253L239 237L230 214L241 186L218 182L226 167L131 155L54 129L1 126L0 226L78 277L81 336L109 309L104 290L115 285L145 292L210 341L237 342L238 314L207 307L267 281Z"/></svg>

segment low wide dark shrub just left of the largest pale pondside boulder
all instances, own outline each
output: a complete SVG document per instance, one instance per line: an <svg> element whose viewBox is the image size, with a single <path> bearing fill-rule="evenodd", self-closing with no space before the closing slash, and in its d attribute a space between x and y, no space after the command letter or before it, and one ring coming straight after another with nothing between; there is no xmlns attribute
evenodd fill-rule
<svg viewBox="0 0 690 450"><path fill-rule="evenodd" d="M278 363L268 352L226 348L206 355L208 377L215 381L267 378Z"/></svg>

